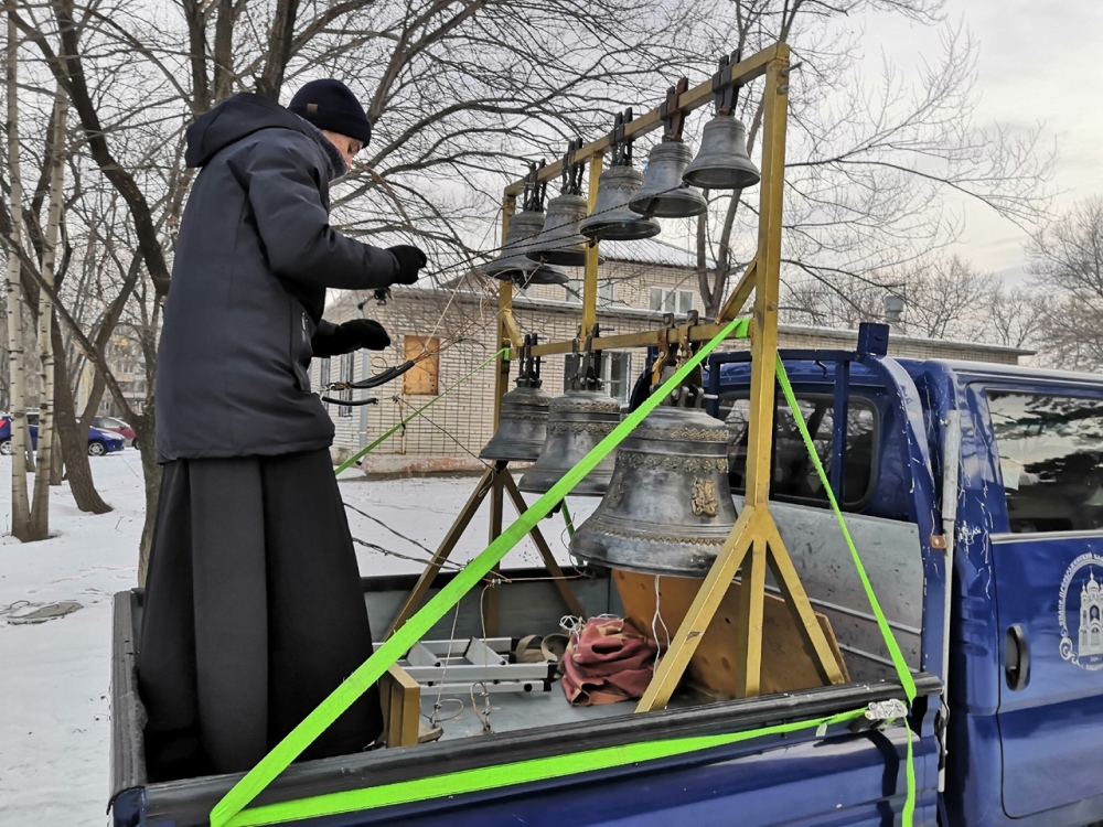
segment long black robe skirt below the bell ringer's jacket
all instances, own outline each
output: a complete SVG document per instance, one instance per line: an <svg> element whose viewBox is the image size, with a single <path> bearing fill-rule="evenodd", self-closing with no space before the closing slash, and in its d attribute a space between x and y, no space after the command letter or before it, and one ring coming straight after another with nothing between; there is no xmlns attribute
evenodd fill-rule
<svg viewBox="0 0 1103 827"><path fill-rule="evenodd" d="M151 780L249 770L371 654L328 451L164 465L138 656ZM373 687L302 758L382 729Z"/></svg>

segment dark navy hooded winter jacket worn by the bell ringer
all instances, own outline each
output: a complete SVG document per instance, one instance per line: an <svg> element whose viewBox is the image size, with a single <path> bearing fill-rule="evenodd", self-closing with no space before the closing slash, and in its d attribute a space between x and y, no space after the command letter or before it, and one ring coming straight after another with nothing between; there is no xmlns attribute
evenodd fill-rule
<svg viewBox="0 0 1103 827"><path fill-rule="evenodd" d="M271 100L237 95L201 117L184 160L201 172L164 310L158 460L325 448L333 423L308 370L330 353L325 289L387 287L398 262L330 227L328 142Z"/></svg>

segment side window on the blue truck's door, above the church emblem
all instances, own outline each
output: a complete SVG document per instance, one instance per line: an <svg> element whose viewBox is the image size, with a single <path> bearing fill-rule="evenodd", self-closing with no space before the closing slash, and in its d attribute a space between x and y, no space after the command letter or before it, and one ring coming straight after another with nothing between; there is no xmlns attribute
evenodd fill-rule
<svg viewBox="0 0 1103 827"><path fill-rule="evenodd" d="M1016 534L1103 527L1103 399L987 391Z"/></svg>

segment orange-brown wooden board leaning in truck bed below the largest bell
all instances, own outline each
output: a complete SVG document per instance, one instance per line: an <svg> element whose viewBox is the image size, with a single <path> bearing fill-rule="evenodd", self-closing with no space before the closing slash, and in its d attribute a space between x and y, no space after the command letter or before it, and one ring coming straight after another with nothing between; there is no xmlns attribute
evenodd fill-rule
<svg viewBox="0 0 1103 827"><path fill-rule="evenodd" d="M624 604L624 615L649 637L655 637L664 647L677 632L689 605L700 589L702 580L682 577L658 578L658 604L662 622L655 620L655 577L633 571L613 570L613 582ZM696 686L711 698L736 697L736 685L740 678L740 667L736 663L736 640L740 630L736 625L738 616L739 590L742 586L732 582L724 595L713 623L697 645L697 651L686 669L686 681ZM828 620L816 612L816 620L835 659L849 680L843 653L835 640ZM664 632L665 623L667 632ZM655 633L652 632L654 624ZM767 593L762 620L762 675L761 692L786 692L795 689L811 689L823 686L813 665L812 657L804 647L800 629L789 606L781 598Z"/></svg>

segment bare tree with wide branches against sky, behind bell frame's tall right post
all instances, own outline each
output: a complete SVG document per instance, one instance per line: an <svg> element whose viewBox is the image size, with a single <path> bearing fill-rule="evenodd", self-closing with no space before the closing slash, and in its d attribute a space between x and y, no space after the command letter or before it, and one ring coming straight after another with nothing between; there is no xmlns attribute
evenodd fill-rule
<svg viewBox="0 0 1103 827"><path fill-rule="evenodd" d="M1039 133L982 130L974 105L976 46L946 29L941 61L910 85L886 65L879 85L856 65L861 32L849 21L888 11L923 24L940 21L938 0L731 0L732 40L750 54L771 42L793 50L786 144L783 278L811 279L845 303L861 281L879 278L954 241L956 216L945 193L979 200L1029 225L1043 212L1052 153ZM753 152L760 140L759 96L741 96ZM715 314L732 272L754 254L757 192L713 195L696 223L699 289Z"/></svg>

